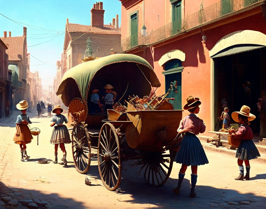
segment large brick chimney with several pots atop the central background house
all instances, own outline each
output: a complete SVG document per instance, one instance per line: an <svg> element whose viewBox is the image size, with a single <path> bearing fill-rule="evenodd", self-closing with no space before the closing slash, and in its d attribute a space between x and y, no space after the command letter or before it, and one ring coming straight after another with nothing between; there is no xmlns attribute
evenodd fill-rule
<svg viewBox="0 0 266 209"><path fill-rule="evenodd" d="M103 15L105 10L102 9L102 2L96 2L91 9L91 26L103 27Z"/></svg>

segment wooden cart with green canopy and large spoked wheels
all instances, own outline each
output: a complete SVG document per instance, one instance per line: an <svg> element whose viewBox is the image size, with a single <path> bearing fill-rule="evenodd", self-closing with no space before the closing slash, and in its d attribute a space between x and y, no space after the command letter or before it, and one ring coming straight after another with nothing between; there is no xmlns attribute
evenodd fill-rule
<svg viewBox="0 0 266 209"><path fill-rule="evenodd" d="M118 79L120 78L120 79ZM72 129L72 154L76 170L86 173L91 162L91 148L97 149L99 174L108 190L121 182L122 162L136 159L150 186L162 186L169 177L179 141L174 140L183 110L172 105L160 110L137 111L128 106L126 113L108 110L108 114L88 111L91 91L110 83L121 101L129 95L149 95L159 87L156 74L143 58L115 54L85 62L64 74L57 95L69 107ZM98 86L96 86L98 85ZM127 90L125 91L125 87Z"/></svg>

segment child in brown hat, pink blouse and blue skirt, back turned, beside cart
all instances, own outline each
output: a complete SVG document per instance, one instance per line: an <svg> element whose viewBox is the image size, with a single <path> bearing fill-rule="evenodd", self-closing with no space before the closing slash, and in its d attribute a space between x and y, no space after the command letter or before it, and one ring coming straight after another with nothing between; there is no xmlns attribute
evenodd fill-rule
<svg viewBox="0 0 266 209"><path fill-rule="evenodd" d="M185 133L185 137L183 138L175 157L175 161L181 163L182 166L178 174L178 186L173 189L173 191L175 194L179 194L186 169L191 165L191 191L189 197L195 197L197 195L195 192L195 186L198 177L198 165L209 163L200 140L196 137L197 134L205 132L206 126L204 125L203 120L196 116L200 111L200 99L189 96L186 101L187 104L184 106L184 110L188 110L190 114L183 118L177 130L178 133Z"/></svg>

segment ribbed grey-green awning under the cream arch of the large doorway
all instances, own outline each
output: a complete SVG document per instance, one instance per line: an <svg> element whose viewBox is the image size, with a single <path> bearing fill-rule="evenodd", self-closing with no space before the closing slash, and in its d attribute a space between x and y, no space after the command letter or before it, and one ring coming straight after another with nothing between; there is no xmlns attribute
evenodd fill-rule
<svg viewBox="0 0 266 209"><path fill-rule="evenodd" d="M238 44L238 45L233 45L230 47L227 47L215 55L211 56L210 58L215 58L215 57L222 57L222 56L227 56L231 54L236 54L236 53L241 53L245 51L250 51L254 49L259 49L265 47L264 45L258 45L258 44Z"/></svg>

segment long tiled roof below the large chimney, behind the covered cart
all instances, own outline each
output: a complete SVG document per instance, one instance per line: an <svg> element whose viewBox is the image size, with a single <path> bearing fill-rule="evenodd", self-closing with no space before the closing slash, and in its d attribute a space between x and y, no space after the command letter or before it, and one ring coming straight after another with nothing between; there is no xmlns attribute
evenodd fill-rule
<svg viewBox="0 0 266 209"><path fill-rule="evenodd" d="M92 27L75 23L68 23L68 31L94 34L121 34L121 30L119 28L115 28L110 25L104 25L103 27Z"/></svg>

